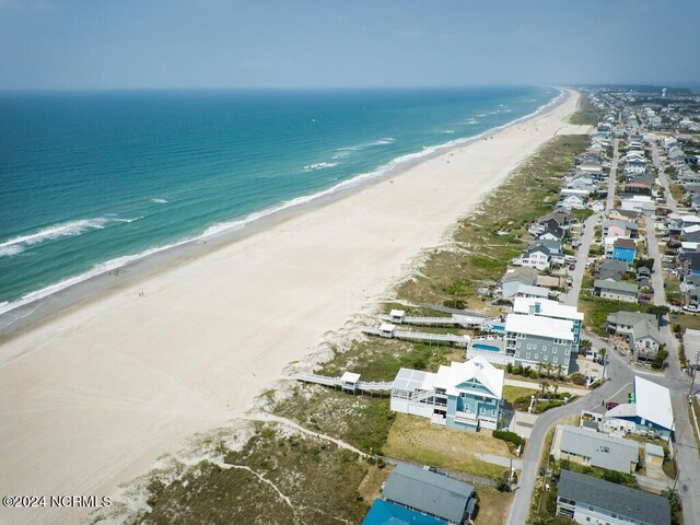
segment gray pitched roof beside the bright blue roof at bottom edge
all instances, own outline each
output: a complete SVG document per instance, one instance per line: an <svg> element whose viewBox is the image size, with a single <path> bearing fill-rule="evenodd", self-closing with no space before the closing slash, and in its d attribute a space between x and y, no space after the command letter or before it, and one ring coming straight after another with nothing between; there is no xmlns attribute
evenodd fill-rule
<svg viewBox="0 0 700 525"><path fill-rule="evenodd" d="M462 523L474 487L413 465L399 463L386 481L384 499Z"/></svg>

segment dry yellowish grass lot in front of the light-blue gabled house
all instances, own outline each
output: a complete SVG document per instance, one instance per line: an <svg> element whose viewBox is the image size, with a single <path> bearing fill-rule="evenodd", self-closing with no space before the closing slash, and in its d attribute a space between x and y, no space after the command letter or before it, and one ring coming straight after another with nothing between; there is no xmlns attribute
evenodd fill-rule
<svg viewBox="0 0 700 525"><path fill-rule="evenodd" d="M386 456L397 459L500 479L505 469L476 457L476 453L511 457L508 444L489 431L447 429L406 413L396 416L384 447Z"/></svg>

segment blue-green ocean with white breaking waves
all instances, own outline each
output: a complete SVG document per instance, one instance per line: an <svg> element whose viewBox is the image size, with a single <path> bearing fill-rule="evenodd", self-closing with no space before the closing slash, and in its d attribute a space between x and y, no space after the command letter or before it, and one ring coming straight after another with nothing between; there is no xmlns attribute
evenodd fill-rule
<svg viewBox="0 0 700 525"><path fill-rule="evenodd" d="M0 94L0 314L524 118L552 88Z"/></svg>

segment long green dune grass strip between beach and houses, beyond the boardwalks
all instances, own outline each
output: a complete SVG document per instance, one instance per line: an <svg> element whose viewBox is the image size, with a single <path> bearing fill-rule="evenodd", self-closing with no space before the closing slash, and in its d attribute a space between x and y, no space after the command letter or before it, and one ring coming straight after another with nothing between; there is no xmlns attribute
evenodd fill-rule
<svg viewBox="0 0 700 525"><path fill-rule="evenodd" d="M459 222L454 233L457 249L432 253L420 273L398 288L398 296L413 304L460 301L483 307L476 289L485 280L499 280L525 247L527 225L551 211L563 174L587 142L585 136L560 136L545 144ZM500 236L499 231L509 233Z"/></svg>

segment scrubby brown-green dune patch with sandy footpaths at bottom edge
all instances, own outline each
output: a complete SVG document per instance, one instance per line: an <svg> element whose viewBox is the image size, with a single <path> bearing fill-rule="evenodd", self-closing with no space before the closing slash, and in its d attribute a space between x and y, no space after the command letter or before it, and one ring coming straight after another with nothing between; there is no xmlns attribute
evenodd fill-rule
<svg viewBox="0 0 700 525"><path fill-rule="evenodd" d="M369 502L358 492L368 466L357 454L332 444L296 435L283 436L275 427L260 425L259 434L241 452L231 452L222 468L203 462L197 474L167 487L153 483L152 512L147 524L331 524L360 523ZM255 474L254 474L255 472ZM264 476L287 498L291 505ZM373 483L380 483L375 477ZM365 487L374 492L376 487Z"/></svg>

